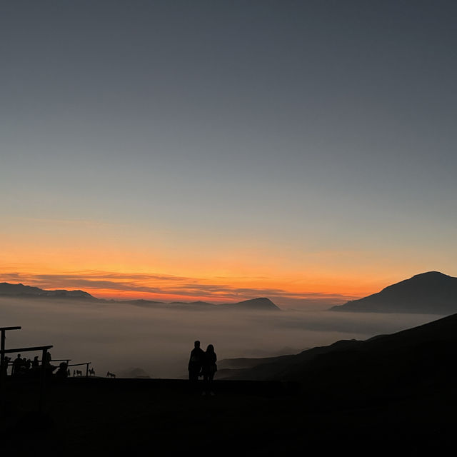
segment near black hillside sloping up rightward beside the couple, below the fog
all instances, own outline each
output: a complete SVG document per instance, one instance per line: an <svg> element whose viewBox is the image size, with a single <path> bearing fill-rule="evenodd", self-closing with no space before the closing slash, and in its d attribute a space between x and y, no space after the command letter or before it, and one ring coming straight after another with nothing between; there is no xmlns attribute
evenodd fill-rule
<svg viewBox="0 0 457 457"><path fill-rule="evenodd" d="M457 314L366 341L342 340L295 356L246 359L220 378L298 381L308 385L412 388L447 383L456 375ZM230 366L221 361L220 366Z"/></svg>

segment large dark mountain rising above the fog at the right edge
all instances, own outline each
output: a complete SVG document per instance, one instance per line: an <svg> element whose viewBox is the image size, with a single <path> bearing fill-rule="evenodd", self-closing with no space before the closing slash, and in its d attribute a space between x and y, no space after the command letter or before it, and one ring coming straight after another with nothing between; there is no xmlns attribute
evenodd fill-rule
<svg viewBox="0 0 457 457"><path fill-rule="evenodd" d="M457 313L457 278L438 271L428 271L383 288L373 295L333 306L331 311Z"/></svg>

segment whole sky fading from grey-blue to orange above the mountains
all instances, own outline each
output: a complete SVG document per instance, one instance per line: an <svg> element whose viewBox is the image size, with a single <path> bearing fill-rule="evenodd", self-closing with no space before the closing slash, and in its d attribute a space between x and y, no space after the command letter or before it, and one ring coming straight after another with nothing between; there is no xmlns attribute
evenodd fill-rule
<svg viewBox="0 0 457 457"><path fill-rule="evenodd" d="M0 281L311 306L457 276L456 19L0 0Z"/></svg>

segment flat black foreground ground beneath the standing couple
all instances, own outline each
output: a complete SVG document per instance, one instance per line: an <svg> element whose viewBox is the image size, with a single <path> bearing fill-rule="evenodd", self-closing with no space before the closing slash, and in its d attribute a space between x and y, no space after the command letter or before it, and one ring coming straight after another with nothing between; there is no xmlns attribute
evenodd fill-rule
<svg viewBox="0 0 457 457"><path fill-rule="evenodd" d="M144 456L154 453L281 456L298 453L408 456L455 446L457 388L366 393L357 386L312 391L298 384L70 378L39 388L6 386L1 414L4 451L33 455Z"/></svg>

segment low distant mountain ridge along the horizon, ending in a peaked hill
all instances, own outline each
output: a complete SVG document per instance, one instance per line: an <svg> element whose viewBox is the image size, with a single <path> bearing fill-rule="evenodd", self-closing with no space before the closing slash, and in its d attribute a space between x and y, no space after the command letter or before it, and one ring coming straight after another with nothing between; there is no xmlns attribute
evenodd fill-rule
<svg viewBox="0 0 457 457"><path fill-rule="evenodd" d="M163 301L151 300L104 300L103 298L96 298L91 296L90 293L80 290L66 291L64 289L55 291L46 291L39 287L24 286L24 284L11 284L0 283L0 296L14 296L24 298L82 298L84 300L99 301L109 303L114 301L116 303L129 303L134 306L141 306L144 308L167 308L186 311L206 311L206 310L230 310L230 311L281 311L281 308L276 306L269 298L251 298L249 300L239 301L237 303L223 303L215 305L206 301L173 301L166 303Z"/></svg>

